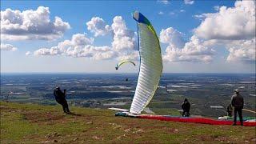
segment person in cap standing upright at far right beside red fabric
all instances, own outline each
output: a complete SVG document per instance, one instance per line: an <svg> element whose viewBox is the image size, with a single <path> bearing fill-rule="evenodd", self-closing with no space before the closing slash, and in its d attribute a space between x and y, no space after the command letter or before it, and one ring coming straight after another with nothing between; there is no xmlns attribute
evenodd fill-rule
<svg viewBox="0 0 256 144"><path fill-rule="evenodd" d="M239 90L234 90L235 94L231 98L231 105L234 107L234 123L233 126L237 125L237 113L239 115L240 124L242 126L242 109L243 109L243 98L239 94Z"/></svg>

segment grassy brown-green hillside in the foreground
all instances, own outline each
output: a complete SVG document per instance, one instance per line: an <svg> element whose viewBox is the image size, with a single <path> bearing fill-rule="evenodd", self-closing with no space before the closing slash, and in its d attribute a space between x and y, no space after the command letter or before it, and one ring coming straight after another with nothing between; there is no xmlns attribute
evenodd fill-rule
<svg viewBox="0 0 256 144"><path fill-rule="evenodd" d="M255 127L114 117L114 111L1 102L1 143L255 143Z"/></svg>

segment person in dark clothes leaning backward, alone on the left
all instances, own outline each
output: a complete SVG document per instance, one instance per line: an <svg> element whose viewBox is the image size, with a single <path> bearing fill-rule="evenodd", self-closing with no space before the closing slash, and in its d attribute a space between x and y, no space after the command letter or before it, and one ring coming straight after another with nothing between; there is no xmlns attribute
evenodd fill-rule
<svg viewBox="0 0 256 144"><path fill-rule="evenodd" d="M64 113L70 114L69 106L66 102L66 90L62 92L59 87L56 87L56 89L54 90L54 97L56 102L62 105Z"/></svg>

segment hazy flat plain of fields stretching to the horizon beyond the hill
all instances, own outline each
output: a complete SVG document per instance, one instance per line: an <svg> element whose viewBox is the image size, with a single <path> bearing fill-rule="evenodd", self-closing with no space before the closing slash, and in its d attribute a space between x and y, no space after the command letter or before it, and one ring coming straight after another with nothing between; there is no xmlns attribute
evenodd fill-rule
<svg viewBox="0 0 256 144"><path fill-rule="evenodd" d="M179 115L184 98L191 103L191 114L218 118L226 115L233 90L239 88L245 108L256 110L255 74L162 74L158 90L149 104L157 114ZM129 81L125 81L129 78ZM137 74L2 74L0 99L9 94L10 102L55 105L53 90L67 89L67 101L72 106L91 108L112 107L123 102L130 108ZM126 97L126 99L122 99ZM41 99L37 99L41 98ZM119 98L119 99L118 99ZM222 106L222 109L210 108ZM255 116L244 111L244 116Z"/></svg>

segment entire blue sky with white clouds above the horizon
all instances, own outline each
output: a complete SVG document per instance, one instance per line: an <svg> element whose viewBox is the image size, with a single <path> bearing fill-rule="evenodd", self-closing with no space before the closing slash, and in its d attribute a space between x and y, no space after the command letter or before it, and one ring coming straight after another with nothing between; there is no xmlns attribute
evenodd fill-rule
<svg viewBox="0 0 256 144"><path fill-rule="evenodd" d="M255 73L255 1L1 1L1 72L137 73L140 11L165 73Z"/></svg>

